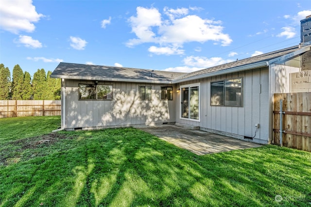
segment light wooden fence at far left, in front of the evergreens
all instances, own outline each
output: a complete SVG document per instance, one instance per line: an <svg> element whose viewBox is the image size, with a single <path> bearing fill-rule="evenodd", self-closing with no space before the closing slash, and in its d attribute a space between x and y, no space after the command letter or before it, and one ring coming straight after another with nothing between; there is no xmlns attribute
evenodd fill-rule
<svg viewBox="0 0 311 207"><path fill-rule="evenodd" d="M60 100L0 100L0 118L61 115Z"/></svg>

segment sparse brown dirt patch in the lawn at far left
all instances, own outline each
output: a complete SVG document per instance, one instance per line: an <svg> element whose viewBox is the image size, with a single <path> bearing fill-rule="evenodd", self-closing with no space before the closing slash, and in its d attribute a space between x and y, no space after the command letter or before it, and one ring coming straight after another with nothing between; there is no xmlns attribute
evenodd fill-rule
<svg viewBox="0 0 311 207"><path fill-rule="evenodd" d="M0 150L0 166L7 166L9 164L25 161L35 157L42 157L55 152L47 150L47 147L53 146L55 143L64 139L72 139L73 137L59 134L50 133L46 135L18 139L5 144ZM44 148L44 149L43 149Z"/></svg>

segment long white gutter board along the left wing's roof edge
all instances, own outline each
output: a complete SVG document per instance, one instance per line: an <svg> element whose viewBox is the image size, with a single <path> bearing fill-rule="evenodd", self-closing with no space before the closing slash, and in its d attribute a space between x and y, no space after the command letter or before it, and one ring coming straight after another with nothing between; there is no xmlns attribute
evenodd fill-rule
<svg viewBox="0 0 311 207"><path fill-rule="evenodd" d="M164 81L164 80L113 79L113 78L63 76L63 75L50 75L50 77L56 78L56 79L71 79L71 80L102 80L102 81L116 81L116 82L142 82L142 83L172 84L172 81Z"/></svg>

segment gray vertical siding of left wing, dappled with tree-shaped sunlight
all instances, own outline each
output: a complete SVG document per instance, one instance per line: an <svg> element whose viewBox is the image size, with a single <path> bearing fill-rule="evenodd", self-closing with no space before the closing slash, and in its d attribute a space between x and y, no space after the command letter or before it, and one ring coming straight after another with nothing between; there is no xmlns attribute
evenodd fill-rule
<svg viewBox="0 0 311 207"><path fill-rule="evenodd" d="M139 82L99 81L98 84L112 85L112 100L80 100L79 83L92 84L90 80L65 80L66 127L88 129L134 125L174 123L173 100L161 100L161 86ZM151 86L151 100L139 100L139 86ZM173 91L176 88L173 87Z"/></svg>

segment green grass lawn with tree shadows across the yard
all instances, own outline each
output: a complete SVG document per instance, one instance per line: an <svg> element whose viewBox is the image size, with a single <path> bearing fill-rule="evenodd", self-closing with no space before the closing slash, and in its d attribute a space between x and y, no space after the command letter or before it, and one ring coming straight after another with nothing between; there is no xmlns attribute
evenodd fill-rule
<svg viewBox="0 0 311 207"><path fill-rule="evenodd" d="M0 119L0 207L311 205L308 152L197 156L135 128L49 133L59 123Z"/></svg>

